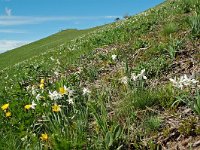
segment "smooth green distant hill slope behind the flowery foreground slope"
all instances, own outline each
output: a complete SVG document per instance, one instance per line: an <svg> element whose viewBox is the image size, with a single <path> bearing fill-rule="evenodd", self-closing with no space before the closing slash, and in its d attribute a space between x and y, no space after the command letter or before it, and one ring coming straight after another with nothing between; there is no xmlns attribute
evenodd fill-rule
<svg viewBox="0 0 200 150"><path fill-rule="evenodd" d="M70 40L77 38L78 36L81 36L83 34L87 34L95 29L96 28L87 30L63 30L47 38L0 54L0 69L12 66L16 63L19 63L41 53L47 52L51 49L57 49L60 47L60 45L62 48L63 44L66 44Z"/></svg>

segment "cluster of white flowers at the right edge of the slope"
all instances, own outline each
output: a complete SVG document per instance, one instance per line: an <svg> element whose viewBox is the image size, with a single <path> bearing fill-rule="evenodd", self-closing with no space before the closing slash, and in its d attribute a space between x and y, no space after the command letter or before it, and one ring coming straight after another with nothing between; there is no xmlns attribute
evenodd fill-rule
<svg viewBox="0 0 200 150"><path fill-rule="evenodd" d="M195 79L192 79L191 77L187 77L187 75L183 75L181 76L180 78L170 78L169 79L173 86L174 87L177 87L177 88L180 88L180 89L183 89L184 87L188 87L188 86L195 86L199 81L195 80Z"/></svg>

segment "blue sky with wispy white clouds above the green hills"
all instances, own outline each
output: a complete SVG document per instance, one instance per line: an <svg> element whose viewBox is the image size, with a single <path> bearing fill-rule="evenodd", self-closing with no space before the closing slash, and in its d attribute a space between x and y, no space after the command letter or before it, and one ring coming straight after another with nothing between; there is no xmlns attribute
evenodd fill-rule
<svg viewBox="0 0 200 150"><path fill-rule="evenodd" d="M62 29L85 29L164 0L0 0L0 53Z"/></svg>

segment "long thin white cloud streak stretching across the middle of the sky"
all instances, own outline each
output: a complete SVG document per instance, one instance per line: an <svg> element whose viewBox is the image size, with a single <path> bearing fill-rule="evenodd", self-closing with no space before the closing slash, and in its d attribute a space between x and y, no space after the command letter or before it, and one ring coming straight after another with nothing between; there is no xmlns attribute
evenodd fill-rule
<svg viewBox="0 0 200 150"><path fill-rule="evenodd" d="M39 24L51 21L79 21L79 20L101 20L115 19L121 16L0 16L0 26L14 26L23 24Z"/></svg>

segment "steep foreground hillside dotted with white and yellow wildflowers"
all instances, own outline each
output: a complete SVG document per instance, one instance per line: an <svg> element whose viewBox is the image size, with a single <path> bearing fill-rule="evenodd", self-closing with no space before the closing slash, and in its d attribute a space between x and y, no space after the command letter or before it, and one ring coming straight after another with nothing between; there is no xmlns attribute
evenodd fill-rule
<svg viewBox="0 0 200 150"><path fill-rule="evenodd" d="M200 149L199 6L168 0L1 70L1 149Z"/></svg>

